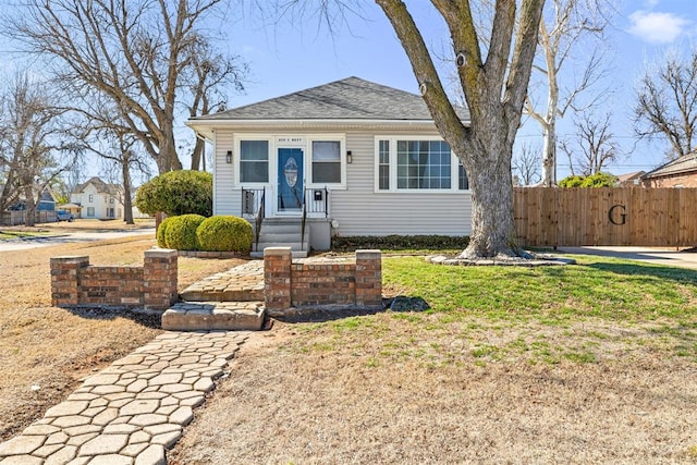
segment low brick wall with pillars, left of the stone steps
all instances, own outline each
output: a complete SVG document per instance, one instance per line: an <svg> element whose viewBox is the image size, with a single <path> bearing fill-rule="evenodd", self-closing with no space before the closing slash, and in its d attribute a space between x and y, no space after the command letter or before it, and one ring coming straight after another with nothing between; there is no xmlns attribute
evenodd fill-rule
<svg viewBox="0 0 697 465"><path fill-rule="evenodd" d="M179 299L176 257L176 250L146 250L143 267L90 266L84 256L51 258L51 304L164 310Z"/></svg>

